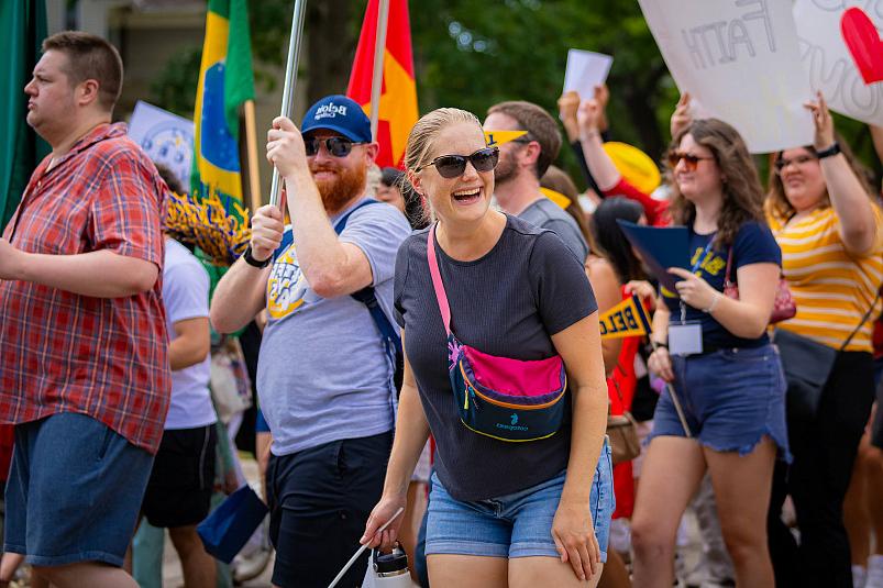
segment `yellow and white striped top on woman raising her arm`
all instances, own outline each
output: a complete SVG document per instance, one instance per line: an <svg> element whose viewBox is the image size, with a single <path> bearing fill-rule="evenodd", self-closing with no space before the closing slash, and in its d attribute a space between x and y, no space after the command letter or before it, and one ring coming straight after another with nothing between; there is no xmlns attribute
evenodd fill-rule
<svg viewBox="0 0 883 588"><path fill-rule="evenodd" d="M843 247L834 207L817 209L786 226L768 218L797 303L797 315L779 328L836 348L856 330L883 282L883 214L878 206L872 208L878 238L863 256L853 256ZM872 351L871 334L880 308L878 301L846 351Z"/></svg>

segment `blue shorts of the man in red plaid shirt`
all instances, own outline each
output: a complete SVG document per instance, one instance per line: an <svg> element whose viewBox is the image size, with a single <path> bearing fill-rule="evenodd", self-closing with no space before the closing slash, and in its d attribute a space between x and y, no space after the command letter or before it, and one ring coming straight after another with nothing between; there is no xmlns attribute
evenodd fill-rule
<svg viewBox="0 0 883 588"><path fill-rule="evenodd" d="M65 412L15 425L3 551L37 566L122 566L153 456Z"/></svg>

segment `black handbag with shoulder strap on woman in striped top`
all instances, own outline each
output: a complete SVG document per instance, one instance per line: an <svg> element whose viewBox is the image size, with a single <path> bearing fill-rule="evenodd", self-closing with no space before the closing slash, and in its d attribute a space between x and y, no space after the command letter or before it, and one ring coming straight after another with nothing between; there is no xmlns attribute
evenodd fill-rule
<svg viewBox="0 0 883 588"><path fill-rule="evenodd" d="M852 337L868 321L879 298L880 292L859 325L849 334L839 350L816 343L812 339L791 331L783 329L775 331L774 343L779 348L782 369L788 386L785 397L788 420L810 422L816 418L821 401L821 390L825 389L825 384L831 375L837 356L847 348Z"/></svg>

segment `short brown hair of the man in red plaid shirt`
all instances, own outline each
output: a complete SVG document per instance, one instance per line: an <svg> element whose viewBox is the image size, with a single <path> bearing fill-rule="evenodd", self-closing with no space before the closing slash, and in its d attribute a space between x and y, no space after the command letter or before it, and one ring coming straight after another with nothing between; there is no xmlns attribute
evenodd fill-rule
<svg viewBox="0 0 883 588"><path fill-rule="evenodd" d="M113 110L123 87L123 60L117 47L90 33L64 31L43 41L43 53L47 51L67 55L66 74L71 86L96 80L99 104Z"/></svg>

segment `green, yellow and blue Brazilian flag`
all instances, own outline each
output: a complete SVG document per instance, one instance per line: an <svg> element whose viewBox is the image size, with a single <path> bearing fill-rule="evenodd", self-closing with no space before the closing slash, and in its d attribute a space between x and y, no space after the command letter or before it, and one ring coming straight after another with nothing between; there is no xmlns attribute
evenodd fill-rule
<svg viewBox="0 0 883 588"><path fill-rule="evenodd" d="M239 109L254 99L247 0L209 0L206 41L196 91L196 136L190 187L218 195L225 208L242 203Z"/></svg>

